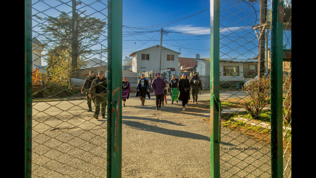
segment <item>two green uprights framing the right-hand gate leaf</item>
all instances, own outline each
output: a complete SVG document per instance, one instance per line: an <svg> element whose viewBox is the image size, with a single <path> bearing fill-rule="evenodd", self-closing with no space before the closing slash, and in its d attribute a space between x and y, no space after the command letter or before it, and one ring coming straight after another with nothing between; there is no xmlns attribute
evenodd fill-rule
<svg viewBox="0 0 316 178"><path fill-rule="evenodd" d="M220 1L210 0L210 159L211 178L220 177L219 28ZM283 178L283 0L272 1L271 176Z"/></svg>

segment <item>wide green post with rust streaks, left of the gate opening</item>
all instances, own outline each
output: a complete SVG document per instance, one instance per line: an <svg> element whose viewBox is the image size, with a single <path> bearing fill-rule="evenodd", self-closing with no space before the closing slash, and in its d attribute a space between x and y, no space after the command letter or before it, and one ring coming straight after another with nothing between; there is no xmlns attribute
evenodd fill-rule
<svg viewBox="0 0 316 178"><path fill-rule="evenodd" d="M120 178L122 170L122 0L108 0L108 112L107 177Z"/></svg>

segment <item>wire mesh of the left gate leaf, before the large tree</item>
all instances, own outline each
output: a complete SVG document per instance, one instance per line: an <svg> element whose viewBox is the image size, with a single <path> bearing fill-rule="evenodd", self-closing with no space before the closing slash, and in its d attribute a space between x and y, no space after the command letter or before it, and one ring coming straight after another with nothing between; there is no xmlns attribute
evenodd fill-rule
<svg viewBox="0 0 316 178"><path fill-rule="evenodd" d="M105 0L32 0L33 178L106 176L105 108L82 100L89 88L71 82L104 73L106 33Z"/></svg>

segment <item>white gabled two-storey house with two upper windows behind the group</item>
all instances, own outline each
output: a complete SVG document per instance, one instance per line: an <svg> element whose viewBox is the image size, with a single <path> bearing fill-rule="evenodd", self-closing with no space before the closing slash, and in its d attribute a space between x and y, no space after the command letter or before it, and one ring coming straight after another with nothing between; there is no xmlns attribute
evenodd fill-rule
<svg viewBox="0 0 316 178"><path fill-rule="evenodd" d="M175 68L178 71L179 52L169 48L161 48L161 71L168 68ZM139 51L135 51L129 55L132 60L132 71L143 73L154 70L159 72L160 67L160 45L155 45Z"/></svg>

